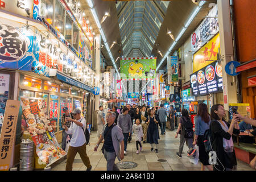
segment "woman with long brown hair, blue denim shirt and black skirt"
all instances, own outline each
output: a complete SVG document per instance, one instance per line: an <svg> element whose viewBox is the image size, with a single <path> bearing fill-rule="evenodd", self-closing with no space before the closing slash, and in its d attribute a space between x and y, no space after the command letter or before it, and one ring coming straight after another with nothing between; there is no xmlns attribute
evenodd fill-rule
<svg viewBox="0 0 256 182"><path fill-rule="evenodd" d="M201 162L201 171L204 171L205 167L209 171L212 171L213 168L209 164L209 152L205 151L204 147L204 132L208 130L210 126L210 114L208 113L207 105L200 103L198 105L198 112L195 117L195 138L193 141L193 146L197 144L199 147L199 160Z"/></svg>

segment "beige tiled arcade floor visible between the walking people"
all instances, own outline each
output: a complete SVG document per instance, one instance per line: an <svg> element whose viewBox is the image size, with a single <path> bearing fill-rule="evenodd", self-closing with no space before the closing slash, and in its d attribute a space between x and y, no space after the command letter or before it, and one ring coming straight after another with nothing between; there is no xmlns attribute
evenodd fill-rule
<svg viewBox="0 0 256 182"><path fill-rule="evenodd" d="M189 162L189 158L185 153L188 151L188 147L184 144L182 159L177 158L176 152L179 149L179 137L174 138L175 131L169 131L167 129L166 135L160 135L158 153L150 151L149 143L142 143L143 151L140 154L136 154L136 144L132 140L127 144L127 155L122 161L135 162L138 164L133 169L120 169L122 171L199 171L201 169L201 163L195 165ZM106 160L104 155L100 151L102 144L98 148L97 152L93 151L98 138L96 132L92 131L90 137L90 146L87 146L86 151L92 164L92 170L105 171ZM166 162L158 162L159 159L165 159ZM61 159L51 166L52 171L64 171L67 159ZM116 159L116 163L118 160ZM240 160L237 160L238 170L241 171L254 171L250 166ZM82 163L79 154L76 155L73 163L73 171L85 171L86 167Z"/></svg>

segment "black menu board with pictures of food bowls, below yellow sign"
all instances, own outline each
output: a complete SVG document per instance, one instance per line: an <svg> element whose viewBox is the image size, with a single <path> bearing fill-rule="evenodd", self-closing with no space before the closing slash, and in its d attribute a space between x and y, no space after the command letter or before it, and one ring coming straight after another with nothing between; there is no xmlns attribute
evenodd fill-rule
<svg viewBox="0 0 256 182"><path fill-rule="evenodd" d="M191 88L194 96L221 92L222 66L217 61L207 65L190 76Z"/></svg>

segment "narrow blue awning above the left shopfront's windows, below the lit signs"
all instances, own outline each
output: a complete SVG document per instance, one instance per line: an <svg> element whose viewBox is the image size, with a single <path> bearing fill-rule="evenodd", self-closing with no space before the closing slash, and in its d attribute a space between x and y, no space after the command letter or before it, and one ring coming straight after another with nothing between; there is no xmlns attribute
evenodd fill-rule
<svg viewBox="0 0 256 182"><path fill-rule="evenodd" d="M84 89L84 90L86 90L88 92L92 92L93 93L94 89L92 87L90 87L88 85L85 85L84 83L82 83L80 81L74 80L73 78L71 78L69 76L66 76L63 73L57 72L56 77L59 80L66 82L67 84L71 84L71 85L77 86L77 87L79 87L81 89Z"/></svg>

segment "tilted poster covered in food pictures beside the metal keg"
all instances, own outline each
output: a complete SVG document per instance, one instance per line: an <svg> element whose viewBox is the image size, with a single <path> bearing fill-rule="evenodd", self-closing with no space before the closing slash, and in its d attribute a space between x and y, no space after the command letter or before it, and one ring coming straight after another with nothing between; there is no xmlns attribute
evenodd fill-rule
<svg viewBox="0 0 256 182"><path fill-rule="evenodd" d="M36 146L36 154L43 163L51 166L67 153L61 149L56 140L47 115L47 103L42 98L31 97L20 97L20 101L27 130Z"/></svg>

